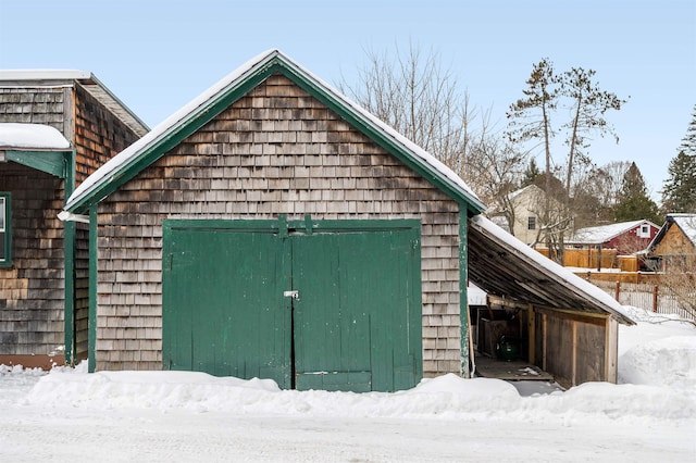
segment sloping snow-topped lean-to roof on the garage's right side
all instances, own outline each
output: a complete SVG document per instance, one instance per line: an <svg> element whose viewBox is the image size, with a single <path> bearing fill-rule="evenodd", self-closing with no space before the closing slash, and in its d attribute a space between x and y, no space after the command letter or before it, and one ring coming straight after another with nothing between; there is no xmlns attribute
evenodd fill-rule
<svg viewBox="0 0 696 463"><path fill-rule="evenodd" d="M476 215L469 223L469 278L486 292L540 306L609 313L635 324L611 296L488 218Z"/></svg>

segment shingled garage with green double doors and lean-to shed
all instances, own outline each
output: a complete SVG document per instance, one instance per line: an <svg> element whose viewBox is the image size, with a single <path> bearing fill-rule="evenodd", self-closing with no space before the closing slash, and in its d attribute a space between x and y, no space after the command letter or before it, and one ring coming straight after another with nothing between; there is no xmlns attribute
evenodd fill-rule
<svg viewBox="0 0 696 463"><path fill-rule="evenodd" d="M66 202L63 220L89 223L89 371L355 391L469 376L471 279L529 315L531 361L616 380L621 305L483 210L442 162L263 53Z"/></svg>

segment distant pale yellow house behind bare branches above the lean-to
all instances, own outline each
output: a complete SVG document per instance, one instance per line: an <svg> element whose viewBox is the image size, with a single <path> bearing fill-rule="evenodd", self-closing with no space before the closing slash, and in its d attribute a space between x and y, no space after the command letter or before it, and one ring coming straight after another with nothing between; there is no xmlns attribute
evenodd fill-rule
<svg viewBox="0 0 696 463"><path fill-rule="evenodd" d="M529 246L544 243L544 217L547 216L544 190L529 185L508 195L506 204L488 211L490 220ZM551 207L558 209L560 203L551 199Z"/></svg>

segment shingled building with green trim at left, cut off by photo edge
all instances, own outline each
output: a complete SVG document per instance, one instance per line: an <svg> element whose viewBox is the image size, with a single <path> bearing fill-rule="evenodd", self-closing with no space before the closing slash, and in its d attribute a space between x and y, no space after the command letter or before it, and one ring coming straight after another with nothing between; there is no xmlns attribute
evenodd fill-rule
<svg viewBox="0 0 696 463"><path fill-rule="evenodd" d="M58 213L147 130L90 73L0 71L0 363L86 358L87 228Z"/></svg>

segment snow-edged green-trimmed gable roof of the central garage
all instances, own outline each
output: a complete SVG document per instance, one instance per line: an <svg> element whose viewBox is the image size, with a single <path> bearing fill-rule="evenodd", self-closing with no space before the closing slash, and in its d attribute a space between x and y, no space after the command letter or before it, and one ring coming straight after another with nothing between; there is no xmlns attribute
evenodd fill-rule
<svg viewBox="0 0 696 463"><path fill-rule="evenodd" d="M315 77L279 50L271 50L251 59L228 74L145 137L109 160L73 192L65 204L65 210L71 213L80 213L90 204L101 201L276 72L322 101L449 197L467 204L472 213L478 213L485 209L469 186L432 154Z"/></svg>

